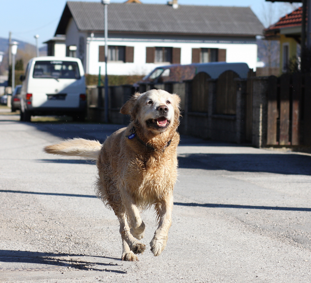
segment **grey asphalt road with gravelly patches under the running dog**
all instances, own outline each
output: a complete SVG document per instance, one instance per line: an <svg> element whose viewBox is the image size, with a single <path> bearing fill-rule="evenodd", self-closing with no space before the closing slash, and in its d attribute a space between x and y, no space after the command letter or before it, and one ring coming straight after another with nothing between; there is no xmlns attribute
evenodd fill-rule
<svg viewBox="0 0 311 283"><path fill-rule="evenodd" d="M95 164L42 152L120 126L16 120L0 115L0 282L311 282L311 155L182 137L167 247L124 262Z"/></svg>

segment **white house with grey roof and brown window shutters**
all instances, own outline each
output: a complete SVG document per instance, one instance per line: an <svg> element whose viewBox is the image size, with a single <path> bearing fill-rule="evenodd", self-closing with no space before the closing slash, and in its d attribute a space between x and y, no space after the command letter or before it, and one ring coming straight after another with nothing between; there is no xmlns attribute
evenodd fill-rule
<svg viewBox="0 0 311 283"><path fill-rule="evenodd" d="M256 69L256 36L264 27L249 7L137 2L108 5L108 74L214 61L245 62ZM67 2L54 39L59 36L66 38L66 56L80 58L86 73L104 70L104 5Z"/></svg>

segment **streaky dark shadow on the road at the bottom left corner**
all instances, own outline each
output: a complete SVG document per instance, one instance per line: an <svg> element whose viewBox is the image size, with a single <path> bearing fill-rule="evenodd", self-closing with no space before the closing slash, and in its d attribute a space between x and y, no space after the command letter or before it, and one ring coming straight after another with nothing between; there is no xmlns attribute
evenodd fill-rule
<svg viewBox="0 0 311 283"><path fill-rule="evenodd" d="M67 256L69 257L67 258ZM89 270L92 268L93 271L108 271L115 273L126 273L126 271L115 270L115 269L107 269L110 266L122 266L122 264L113 264L113 263L104 263L104 262L93 262L87 261L87 258L82 259L74 259L72 260L70 257L83 257L87 255L82 254L63 254L63 253L46 253L46 252L28 252L28 251L14 251L14 250L0 250L0 261L2 262L19 262L19 263L35 263L35 264L44 264L49 266L63 266L66 268L74 268L79 270ZM57 258L64 257L64 258ZM102 259L114 259L119 260L117 258L112 257L104 257L104 256L93 256L90 257L100 257ZM100 266L102 268L94 268L93 265Z"/></svg>

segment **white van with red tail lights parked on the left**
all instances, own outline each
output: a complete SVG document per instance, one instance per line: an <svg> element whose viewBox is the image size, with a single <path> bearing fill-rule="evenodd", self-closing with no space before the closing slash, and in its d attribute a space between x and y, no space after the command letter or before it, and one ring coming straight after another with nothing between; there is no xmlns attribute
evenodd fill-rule
<svg viewBox="0 0 311 283"><path fill-rule="evenodd" d="M34 115L86 115L86 85L81 60L72 57L35 57L21 76L21 121Z"/></svg>

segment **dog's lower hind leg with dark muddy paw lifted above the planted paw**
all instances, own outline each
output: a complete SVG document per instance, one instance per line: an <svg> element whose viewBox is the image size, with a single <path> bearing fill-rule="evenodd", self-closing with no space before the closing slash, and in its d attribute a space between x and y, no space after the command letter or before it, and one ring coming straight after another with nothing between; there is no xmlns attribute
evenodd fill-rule
<svg viewBox="0 0 311 283"><path fill-rule="evenodd" d="M125 213L120 214L119 221L120 221L120 234L122 240L124 240L127 243L129 249L135 254L144 252L144 250L146 249L146 245L135 240L135 238L130 233L130 228L128 226L128 221ZM124 244L123 244L123 252L124 252Z"/></svg>

